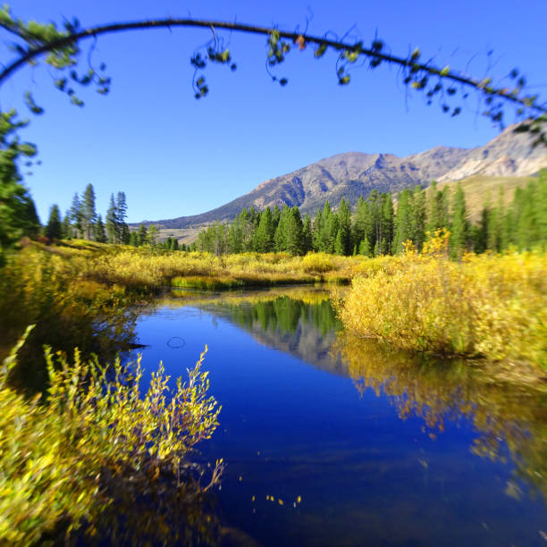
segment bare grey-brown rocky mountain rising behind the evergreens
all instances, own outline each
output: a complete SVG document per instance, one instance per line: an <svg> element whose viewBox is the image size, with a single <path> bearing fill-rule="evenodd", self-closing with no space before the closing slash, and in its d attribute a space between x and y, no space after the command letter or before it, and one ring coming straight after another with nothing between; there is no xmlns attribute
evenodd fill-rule
<svg viewBox="0 0 547 547"><path fill-rule="evenodd" d="M346 198L351 206L359 196L427 186L431 181L458 181L471 175L484 177L526 176L547 166L544 147L532 147L533 137L516 133L515 125L484 147L434 147L407 157L392 154L346 152L316 164L262 182L257 188L226 205L201 215L181 216L155 223L161 228L189 228L215 221L230 221L244 207L299 206L302 213L315 214L328 199L332 206Z"/></svg>

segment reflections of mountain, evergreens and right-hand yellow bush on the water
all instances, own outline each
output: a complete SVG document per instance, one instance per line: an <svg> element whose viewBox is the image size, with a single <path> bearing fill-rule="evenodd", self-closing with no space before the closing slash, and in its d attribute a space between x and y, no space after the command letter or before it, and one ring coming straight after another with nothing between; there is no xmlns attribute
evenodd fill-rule
<svg viewBox="0 0 547 547"><path fill-rule="evenodd" d="M257 341L335 374L349 375L359 392L387 395L401 419L424 420L433 438L447 420L469 419L478 435L474 454L516 465L519 478L547 500L547 383L503 376L496 365L441 360L389 349L341 331L328 292L260 293L199 307L251 332ZM338 335L336 332L339 332ZM508 450L509 449L509 450ZM508 495L518 497L516 483Z"/></svg>

